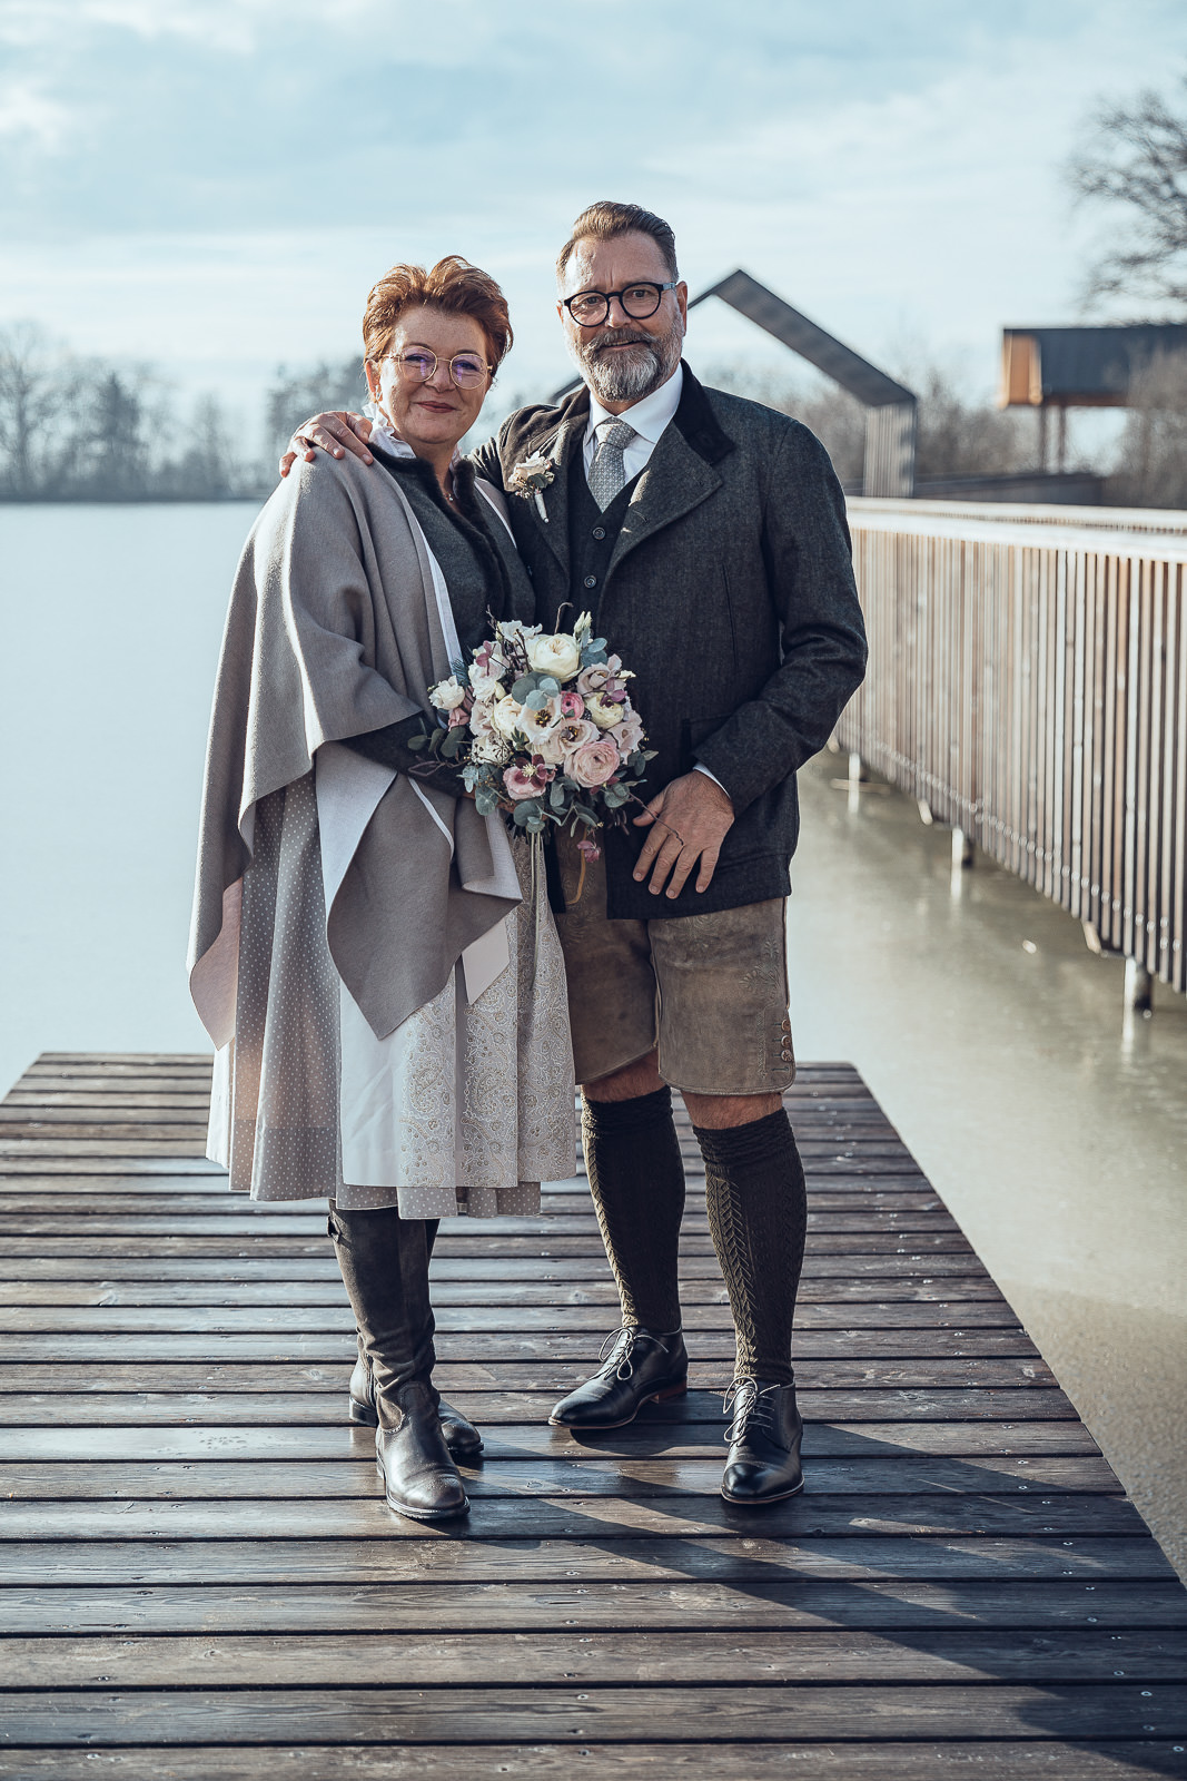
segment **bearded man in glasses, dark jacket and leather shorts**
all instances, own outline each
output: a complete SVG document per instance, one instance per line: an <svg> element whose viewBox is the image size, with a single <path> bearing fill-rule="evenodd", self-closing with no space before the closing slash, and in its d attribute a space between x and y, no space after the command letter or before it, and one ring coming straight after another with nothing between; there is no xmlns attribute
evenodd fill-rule
<svg viewBox="0 0 1187 1781"><path fill-rule="evenodd" d="M705 1200L737 1330L723 1496L803 1487L792 1314L804 1174L783 1090L795 1067L785 901L795 771L865 671L844 497L819 440L682 363L687 285L660 217L596 203L557 260L557 313L584 386L520 410L477 452L511 490L516 543L548 630L582 609L637 675L653 796L610 830L578 896L557 846L589 1186L623 1327L552 1412L618 1428L687 1389L676 1252L683 1167L671 1088L705 1158ZM347 417L294 438L365 452ZM525 458L552 483L514 499ZM292 461L292 459L288 459Z"/></svg>

